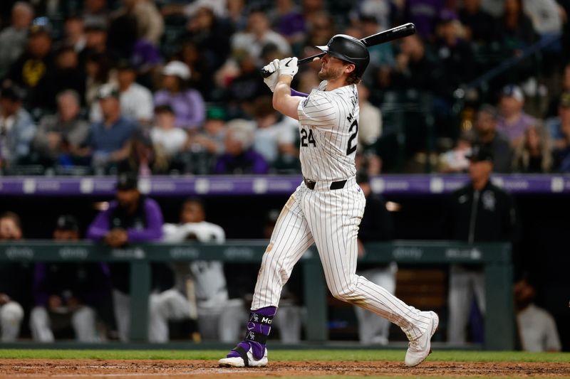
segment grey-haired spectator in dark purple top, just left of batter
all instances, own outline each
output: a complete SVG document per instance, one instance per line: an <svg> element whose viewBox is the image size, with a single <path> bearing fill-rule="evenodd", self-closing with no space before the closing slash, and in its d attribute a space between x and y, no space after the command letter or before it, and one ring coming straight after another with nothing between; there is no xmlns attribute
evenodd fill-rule
<svg viewBox="0 0 570 379"><path fill-rule="evenodd" d="M228 122L225 154L219 157L215 174L267 174L269 165L253 149L254 126L245 119Z"/></svg>

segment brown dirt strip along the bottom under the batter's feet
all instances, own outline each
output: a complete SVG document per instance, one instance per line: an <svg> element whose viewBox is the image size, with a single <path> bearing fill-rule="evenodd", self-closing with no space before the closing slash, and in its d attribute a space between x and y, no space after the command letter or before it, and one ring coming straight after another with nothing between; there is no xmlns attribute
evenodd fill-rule
<svg viewBox="0 0 570 379"><path fill-rule="evenodd" d="M283 361L265 368L219 368L216 361L0 359L0 378L279 378L292 376L570 377L570 363Z"/></svg>

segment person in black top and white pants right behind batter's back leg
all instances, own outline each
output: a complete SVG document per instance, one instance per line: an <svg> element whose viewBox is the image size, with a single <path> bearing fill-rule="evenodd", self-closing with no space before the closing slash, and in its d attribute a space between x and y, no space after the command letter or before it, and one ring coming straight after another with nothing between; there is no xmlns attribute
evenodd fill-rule
<svg viewBox="0 0 570 379"><path fill-rule="evenodd" d="M385 199L379 194L373 193L370 178L365 171L358 171L356 183L361 187L366 197L366 208L361 225L358 228L358 257L365 257L367 253L371 253L371 251L366 250L366 243L393 239L394 221L386 208ZM380 285L390 294L395 293L397 272L398 265L395 262L390 262L387 265L358 263L358 275ZM378 315L366 311L360 306L354 306L354 311L358 319L359 341L364 344L387 345L390 321L378 317Z"/></svg>

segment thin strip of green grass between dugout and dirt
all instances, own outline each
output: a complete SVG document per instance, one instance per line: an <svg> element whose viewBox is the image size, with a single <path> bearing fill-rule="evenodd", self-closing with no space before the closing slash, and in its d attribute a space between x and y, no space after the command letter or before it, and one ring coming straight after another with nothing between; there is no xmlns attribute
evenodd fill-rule
<svg viewBox="0 0 570 379"><path fill-rule="evenodd" d="M0 349L0 358L43 359L204 359L217 360L227 351L216 350L38 350ZM403 361L404 350L275 350L276 361ZM570 353L521 351L435 351L430 361L468 362L570 362Z"/></svg>

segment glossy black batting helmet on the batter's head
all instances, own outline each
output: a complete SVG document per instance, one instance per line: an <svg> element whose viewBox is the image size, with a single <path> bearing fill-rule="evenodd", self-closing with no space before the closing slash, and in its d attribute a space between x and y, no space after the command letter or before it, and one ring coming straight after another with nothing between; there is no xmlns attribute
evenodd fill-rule
<svg viewBox="0 0 570 379"><path fill-rule="evenodd" d="M346 34L337 34L328 41L326 46L316 46L316 48L328 55L353 63L356 66L354 72L358 78L362 76L370 62L370 54L364 43Z"/></svg>

